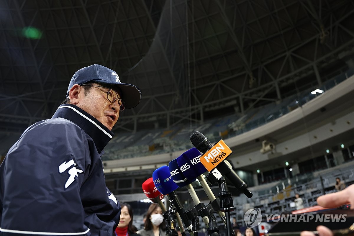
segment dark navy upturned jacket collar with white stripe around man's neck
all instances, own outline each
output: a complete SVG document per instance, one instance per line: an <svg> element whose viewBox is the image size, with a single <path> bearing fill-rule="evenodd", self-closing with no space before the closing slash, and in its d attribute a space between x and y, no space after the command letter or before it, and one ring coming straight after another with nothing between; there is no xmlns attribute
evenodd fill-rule
<svg viewBox="0 0 354 236"><path fill-rule="evenodd" d="M53 118L67 119L82 128L95 142L99 154L101 154L103 148L114 135L112 131L102 125L95 117L72 104L60 105L54 113Z"/></svg>

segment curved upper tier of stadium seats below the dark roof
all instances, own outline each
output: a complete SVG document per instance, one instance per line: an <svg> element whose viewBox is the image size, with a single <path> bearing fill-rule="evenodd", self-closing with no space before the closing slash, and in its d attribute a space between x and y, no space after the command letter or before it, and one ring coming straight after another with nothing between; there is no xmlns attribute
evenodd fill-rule
<svg viewBox="0 0 354 236"><path fill-rule="evenodd" d="M354 69L349 69L324 83L319 90L325 92L352 74ZM234 113L206 120L202 125L178 124L169 128L140 130L136 133L118 133L107 145L105 149L107 155L104 155L102 160L126 159L189 149L193 146L186 137L195 131L202 132L211 142L237 136L273 121L322 94L313 92L314 90L315 88L308 88L299 94L288 96L278 104L269 103L263 107L253 108L245 115Z"/></svg>

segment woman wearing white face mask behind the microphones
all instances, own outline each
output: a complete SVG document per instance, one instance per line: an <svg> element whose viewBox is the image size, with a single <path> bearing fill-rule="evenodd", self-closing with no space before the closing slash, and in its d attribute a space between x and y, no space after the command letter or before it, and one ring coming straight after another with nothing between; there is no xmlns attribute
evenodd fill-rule
<svg viewBox="0 0 354 236"><path fill-rule="evenodd" d="M166 221L159 204L152 203L146 213L144 229L137 231L141 236L165 236Z"/></svg>

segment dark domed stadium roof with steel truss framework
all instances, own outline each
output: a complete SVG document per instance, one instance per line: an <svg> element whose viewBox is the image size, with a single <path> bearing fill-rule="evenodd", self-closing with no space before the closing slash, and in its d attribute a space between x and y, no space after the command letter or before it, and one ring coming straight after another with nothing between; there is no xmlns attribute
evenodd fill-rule
<svg viewBox="0 0 354 236"><path fill-rule="evenodd" d="M351 0L7 0L0 9L0 131L10 133L51 117L90 64L141 89L116 127L134 131L246 113L321 85L346 70L354 47Z"/></svg>

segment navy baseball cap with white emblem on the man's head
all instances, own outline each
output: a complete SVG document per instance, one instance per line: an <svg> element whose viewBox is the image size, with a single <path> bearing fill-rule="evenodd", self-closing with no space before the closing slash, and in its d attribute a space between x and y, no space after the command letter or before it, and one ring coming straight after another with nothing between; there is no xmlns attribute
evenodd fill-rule
<svg viewBox="0 0 354 236"><path fill-rule="evenodd" d="M120 90L118 92L121 92L120 96L125 102L126 109L136 107L141 100L141 92L138 87L130 84L123 84L120 82L119 76L114 70L98 64L84 67L75 72L70 80L66 97L69 96L69 90L74 84L82 85L87 82L96 82L118 87Z"/></svg>

